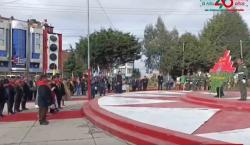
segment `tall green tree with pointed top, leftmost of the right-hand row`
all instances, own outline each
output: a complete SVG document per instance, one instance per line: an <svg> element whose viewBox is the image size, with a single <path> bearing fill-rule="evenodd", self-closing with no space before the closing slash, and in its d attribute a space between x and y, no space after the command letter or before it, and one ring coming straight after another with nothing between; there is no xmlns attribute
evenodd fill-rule
<svg viewBox="0 0 250 145"><path fill-rule="evenodd" d="M178 31L169 32L161 19L158 17L155 26L148 25L144 31L143 53L147 57L145 65L148 71L160 70L168 72L174 66L176 55L175 48L178 45Z"/></svg>

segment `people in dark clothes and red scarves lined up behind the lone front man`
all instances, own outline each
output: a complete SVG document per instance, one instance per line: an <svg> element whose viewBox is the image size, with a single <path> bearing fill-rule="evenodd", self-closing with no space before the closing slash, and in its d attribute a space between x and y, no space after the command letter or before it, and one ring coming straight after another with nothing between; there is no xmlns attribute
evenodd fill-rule
<svg viewBox="0 0 250 145"><path fill-rule="evenodd" d="M44 77L34 76L33 78L25 77L12 77L0 79L0 117L4 117L3 109L7 104L8 114L16 114L24 110L28 110L26 107L27 101L35 101L35 105L38 107L41 105L41 96L46 94L50 106L50 112L56 113L64 105L64 100L68 99L72 92L72 81L62 79L59 76L53 76L46 82L42 81ZM39 88L42 85L49 86L49 91L40 91ZM40 108L40 107L39 107ZM44 121L41 120L41 124Z"/></svg>

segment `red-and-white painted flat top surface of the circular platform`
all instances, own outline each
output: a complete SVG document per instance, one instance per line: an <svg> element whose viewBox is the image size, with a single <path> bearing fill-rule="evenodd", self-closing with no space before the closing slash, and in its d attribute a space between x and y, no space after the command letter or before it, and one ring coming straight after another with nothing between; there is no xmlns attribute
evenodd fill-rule
<svg viewBox="0 0 250 145"><path fill-rule="evenodd" d="M250 112L182 101L188 92L150 91L102 97L102 109L127 119L235 144L250 145Z"/></svg>

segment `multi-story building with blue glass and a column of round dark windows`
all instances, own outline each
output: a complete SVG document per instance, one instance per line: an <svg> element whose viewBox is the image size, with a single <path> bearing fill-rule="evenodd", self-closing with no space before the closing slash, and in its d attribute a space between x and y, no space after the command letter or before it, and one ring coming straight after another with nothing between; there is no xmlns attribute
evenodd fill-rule
<svg viewBox="0 0 250 145"><path fill-rule="evenodd" d="M47 22L0 16L0 72L62 71L62 35Z"/></svg>

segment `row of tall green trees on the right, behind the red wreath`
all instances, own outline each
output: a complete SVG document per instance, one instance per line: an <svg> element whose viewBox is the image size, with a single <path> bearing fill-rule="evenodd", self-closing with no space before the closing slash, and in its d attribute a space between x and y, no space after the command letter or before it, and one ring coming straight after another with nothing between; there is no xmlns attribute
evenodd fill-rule
<svg viewBox="0 0 250 145"><path fill-rule="evenodd" d="M209 71L225 49L231 50L232 60L239 58L240 40L245 61L250 66L249 30L239 13L214 15L199 36L188 32L179 36L176 29L167 30L159 17L155 25L147 25L144 31L145 64L148 70L157 69L174 76L180 75L182 69Z"/></svg>

